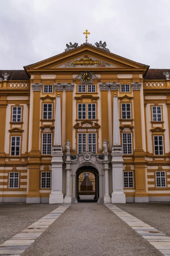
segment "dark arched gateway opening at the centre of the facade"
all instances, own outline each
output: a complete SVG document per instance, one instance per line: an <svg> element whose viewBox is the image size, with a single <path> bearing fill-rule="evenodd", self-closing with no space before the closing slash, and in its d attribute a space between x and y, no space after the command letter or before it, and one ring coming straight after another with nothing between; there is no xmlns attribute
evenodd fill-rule
<svg viewBox="0 0 170 256"><path fill-rule="evenodd" d="M81 187L85 175L88 175L92 189ZM99 198L99 172L96 168L83 166L76 171L76 198L78 202L97 202Z"/></svg>

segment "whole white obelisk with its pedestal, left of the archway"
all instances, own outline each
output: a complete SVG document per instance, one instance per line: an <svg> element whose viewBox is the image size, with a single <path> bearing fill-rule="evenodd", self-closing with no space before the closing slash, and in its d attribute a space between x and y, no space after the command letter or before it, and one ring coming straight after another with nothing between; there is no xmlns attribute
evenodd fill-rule
<svg viewBox="0 0 170 256"><path fill-rule="evenodd" d="M61 104L59 94L56 99L54 146L51 156L52 189L49 203L63 203L63 148L61 146Z"/></svg>

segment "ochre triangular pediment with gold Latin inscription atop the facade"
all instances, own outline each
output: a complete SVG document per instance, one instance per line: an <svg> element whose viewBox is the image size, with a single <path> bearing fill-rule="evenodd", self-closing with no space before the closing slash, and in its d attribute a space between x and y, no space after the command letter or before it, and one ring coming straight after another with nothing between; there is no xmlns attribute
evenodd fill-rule
<svg viewBox="0 0 170 256"><path fill-rule="evenodd" d="M81 61L81 63L75 63L77 61ZM127 69L128 72L131 69L140 69L145 73L149 66L106 52L91 45L82 45L73 50L25 66L24 69L30 75L31 71L36 70L54 72L66 69L80 70L82 68L84 70L85 68L89 69L89 67L94 69L107 68L112 70Z"/></svg>

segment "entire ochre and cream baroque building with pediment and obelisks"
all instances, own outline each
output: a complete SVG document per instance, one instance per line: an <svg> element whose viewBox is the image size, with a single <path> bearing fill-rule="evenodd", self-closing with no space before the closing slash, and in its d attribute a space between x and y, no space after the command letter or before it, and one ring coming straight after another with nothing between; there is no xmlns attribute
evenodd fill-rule
<svg viewBox="0 0 170 256"><path fill-rule="evenodd" d="M96 45L0 71L1 202L170 201L170 70Z"/></svg>

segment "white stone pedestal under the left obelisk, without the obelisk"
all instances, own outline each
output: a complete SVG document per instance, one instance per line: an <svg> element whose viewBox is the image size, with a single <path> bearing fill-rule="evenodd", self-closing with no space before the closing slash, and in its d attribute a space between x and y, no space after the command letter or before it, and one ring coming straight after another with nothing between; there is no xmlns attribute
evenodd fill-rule
<svg viewBox="0 0 170 256"><path fill-rule="evenodd" d="M49 203L63 203L63 148L54 145L52 149L52 189Z"/></svg>

